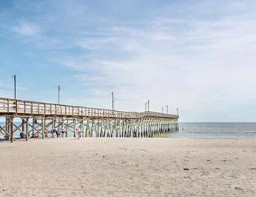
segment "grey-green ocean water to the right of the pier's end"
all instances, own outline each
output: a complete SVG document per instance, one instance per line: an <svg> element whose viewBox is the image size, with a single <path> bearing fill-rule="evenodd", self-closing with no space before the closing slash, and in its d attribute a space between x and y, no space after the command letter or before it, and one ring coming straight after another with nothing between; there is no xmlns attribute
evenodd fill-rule
<svg viewBox="0 0 256 197"><path fill-rule="evenodd" d="M179 123L163 137L188 139L256 139L256 123Z"/></svg>

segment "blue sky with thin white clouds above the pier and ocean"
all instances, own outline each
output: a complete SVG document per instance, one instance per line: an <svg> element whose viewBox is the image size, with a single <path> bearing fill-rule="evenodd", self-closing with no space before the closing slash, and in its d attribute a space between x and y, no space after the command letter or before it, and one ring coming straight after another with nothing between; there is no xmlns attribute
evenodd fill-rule
<svg viewBox="0 0 256 197"><path fill-rule="evenodd" d="M0 97L256 121L256 1L0 1Z"/></svg>

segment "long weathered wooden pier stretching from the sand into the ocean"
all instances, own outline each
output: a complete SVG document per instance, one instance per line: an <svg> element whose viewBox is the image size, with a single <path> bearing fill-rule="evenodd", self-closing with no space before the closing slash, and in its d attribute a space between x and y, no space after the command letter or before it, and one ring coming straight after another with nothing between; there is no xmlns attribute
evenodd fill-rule
<svg viewBox="0 0 256 197"><path fill-rule="evenodd" d="M111 109L0 98L0 136L45 139L53 137L154 137L178 131L178 115L122 112Z"/></svg>

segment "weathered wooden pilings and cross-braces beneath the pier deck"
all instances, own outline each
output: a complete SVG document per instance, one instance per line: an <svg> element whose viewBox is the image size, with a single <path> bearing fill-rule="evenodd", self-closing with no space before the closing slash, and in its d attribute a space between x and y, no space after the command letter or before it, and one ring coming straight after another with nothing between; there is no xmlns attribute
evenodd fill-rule
<svg viewBox="0 0 256 197"><path fill-rule="evenodd" d="M15 123L20 118L22 123ZM29 118L33 121L29 123ZM17 120L18 121L18 120ZM16 121L16 122L17 122ZM64 136L77 137L78 131L83 137L154 137L172 131L178 131L178 120L167 117L140 117L136 118L102 118L102 117L6 117L5 126L0 125L0 135L4 135L10 142L15 140L15 132L20 131L26 141L29 136L45 139L53 129L65 130ZM64 129L65 128L65 129ZM71 134L70 134L71 132ZM69 133L69 134L68 134ZM23 138L23 137L22 137Z"/></svg>

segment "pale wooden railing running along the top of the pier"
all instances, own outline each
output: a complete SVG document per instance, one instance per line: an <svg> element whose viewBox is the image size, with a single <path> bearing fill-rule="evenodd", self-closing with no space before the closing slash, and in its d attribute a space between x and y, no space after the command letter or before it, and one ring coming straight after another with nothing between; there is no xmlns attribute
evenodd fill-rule
<svg viewBox="0 0 256 197"><path fill-rule="evenodd" d="M63 117L116 117L116 118L140 118L140 117L169 117L158 112L123 112L111 109L98 109L92 107L72 106L65 104L51 104L36 101L15 100L0 97L0 115L28 115L28 116L63 116Z"/></svg>

